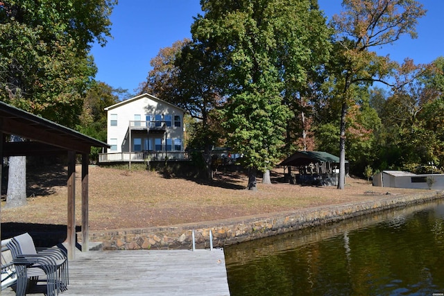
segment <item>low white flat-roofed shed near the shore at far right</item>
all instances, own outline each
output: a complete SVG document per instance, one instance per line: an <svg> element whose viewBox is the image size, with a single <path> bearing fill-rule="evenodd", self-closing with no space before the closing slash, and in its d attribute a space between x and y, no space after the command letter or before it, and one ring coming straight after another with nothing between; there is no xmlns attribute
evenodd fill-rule
<svg viewBox="0 0 444 296"><path fill-rule="evenodd" d="M382 171L373 176L373 186L411 189L444 189L444 175L416 175L404 171Z"/></svg>

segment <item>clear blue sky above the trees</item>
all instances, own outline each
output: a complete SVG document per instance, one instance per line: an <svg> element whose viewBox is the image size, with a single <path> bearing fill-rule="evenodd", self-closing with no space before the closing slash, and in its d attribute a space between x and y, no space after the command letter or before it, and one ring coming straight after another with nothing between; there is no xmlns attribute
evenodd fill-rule
<svg viewBox="0 0 444 296"><path fill-rule="evenodd" d="M398 62L413 58L416 63L432 62L444 55L444 1L420 2L427 15L418 21L418 38L403 36L395 44L379 49L379 54L389 54ZM329 19L341 11L340 0L318 3ZM151 70L150 60L160 49L191 37L193 17L200 12L199 0L119 0L111 15L114 38L105 47L94 44L92 48L99 69L96 80L134 94Z"/></svg>

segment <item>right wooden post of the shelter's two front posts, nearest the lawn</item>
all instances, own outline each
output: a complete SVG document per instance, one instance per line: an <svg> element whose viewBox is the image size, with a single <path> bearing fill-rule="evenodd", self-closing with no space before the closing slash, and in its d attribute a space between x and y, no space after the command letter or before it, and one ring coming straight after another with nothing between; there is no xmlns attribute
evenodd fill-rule
<svg viewBox="0 0 444 296"><path fill-rule="evenodd" d="M89 155L84 153L82 155L82 252L89 250L88 165Z"/></svg>

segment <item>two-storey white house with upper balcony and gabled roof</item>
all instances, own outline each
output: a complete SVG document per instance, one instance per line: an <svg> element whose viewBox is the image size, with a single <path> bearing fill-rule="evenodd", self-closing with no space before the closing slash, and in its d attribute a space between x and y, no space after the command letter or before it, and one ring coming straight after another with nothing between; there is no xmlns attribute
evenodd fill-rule
<svg viewBox="0 0 444 296"><path fill-rule="evenodd" d="M107 153L99 162L184 158L185 110L151 94L106 107Z"/></svg>

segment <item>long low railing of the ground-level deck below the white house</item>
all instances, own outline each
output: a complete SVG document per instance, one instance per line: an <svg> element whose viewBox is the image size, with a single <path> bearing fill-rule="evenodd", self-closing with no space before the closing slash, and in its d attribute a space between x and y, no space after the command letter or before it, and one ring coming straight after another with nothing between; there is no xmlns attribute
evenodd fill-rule
<svg viewBox="0 0 444 296"><path fill-rule="evenodd" d="M189 155L187 152L173 151L121 152L99 154L99 162L151 162L164 160L189 160Z"/></svg>

